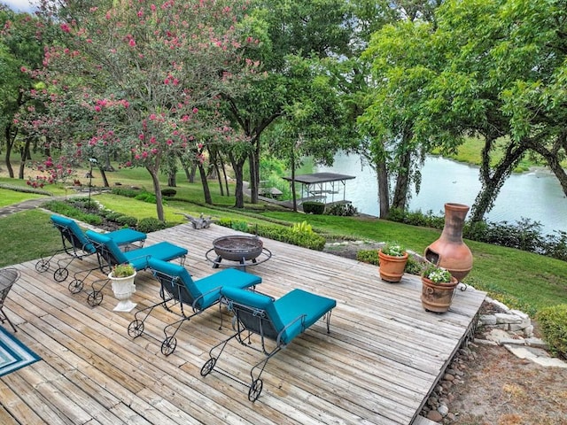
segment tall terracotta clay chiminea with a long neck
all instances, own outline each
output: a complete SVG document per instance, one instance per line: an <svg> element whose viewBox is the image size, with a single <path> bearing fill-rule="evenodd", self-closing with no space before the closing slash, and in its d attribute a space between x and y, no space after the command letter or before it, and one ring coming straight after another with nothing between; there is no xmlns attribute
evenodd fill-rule
<svg viewBox="0 0 567 425"><path fill-rule="evenodd" d="M462 227L469 212L468 205L445 204L445 227L437 241L425 248L424 257L446 268L461 282L472 269L472 252L462 242Z"/></svg>

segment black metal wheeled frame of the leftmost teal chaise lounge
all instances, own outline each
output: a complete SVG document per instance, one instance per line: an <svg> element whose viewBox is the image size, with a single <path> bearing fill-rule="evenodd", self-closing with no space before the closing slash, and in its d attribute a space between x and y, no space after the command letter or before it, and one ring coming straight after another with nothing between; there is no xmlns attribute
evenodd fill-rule
<svg viewBox="0 0 567 425"><path fill-rule="evenodd" d="M56 255L66 253L68 258L58 259L58 268L55 270L55 272L53 272L53 279L55 279L55 282L63 282L69 275L68 267L71 265L74 259L82 260L86 257L89 257L90 255L93 255L95 252L89 252L86 249L86 245L81 243L79 238L75 236L74 232L70 228L61 226L58 223L53 223L53 226L55 226L55 228L57 228L61 234L61 243L63 244L63 247L57 251L52 252L49 259L39 259L37 263L35 263L35 270L39 273L47 272L50 269L50 261Z"/></svg>

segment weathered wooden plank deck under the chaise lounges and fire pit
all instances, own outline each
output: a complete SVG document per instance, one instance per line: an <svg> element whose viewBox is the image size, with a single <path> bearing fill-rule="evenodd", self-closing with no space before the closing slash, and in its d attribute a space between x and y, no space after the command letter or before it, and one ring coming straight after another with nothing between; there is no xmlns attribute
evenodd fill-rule
<svg viewBox="0 0 567 425"><path fill-rule="evenodd" d="M186 267L199 278L214 273L205 259L214 238L236 233L185 224L150 234L146 243L188 248ZM459 291L450 312L427 313L415 276L388 284L377 267L355 260L268 239L264 245L272 258L247 267L262 276L259 290L280 297L301 288L338 305L330 335L318 322L268 362L255 403L245 386L215 372L199 375L209 348L230 333L226 326L219 330L217 308L183 324L177 349L165 357L162 328L176 316L156 309L146 331L159 340L132 339L127 327L136 309L114 313L110 285L102 304L90 307L86 293L67 290L72 276L54 282L53 267L38 274L31 261L17 266L22 277L4 308L20 341L43 360L0 378L0 423L412 423L470 331L485 293ZM72 272L85 262L75 260ZM159 299L148 272L138 273L136 289L138 307ZM248 381L259 354L237 344L227 350L219 365Z"/></svg>

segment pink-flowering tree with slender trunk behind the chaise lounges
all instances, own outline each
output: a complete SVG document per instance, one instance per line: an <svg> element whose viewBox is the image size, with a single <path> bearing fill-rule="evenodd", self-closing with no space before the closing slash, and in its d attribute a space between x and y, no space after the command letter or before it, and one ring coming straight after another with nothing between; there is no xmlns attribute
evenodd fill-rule
<svg viewBox="0 0 567 425"><path fill-rule="evenodd" d="M213 135L223 143L239 140L215 111L218 94L241 87L240 74L254 71L243 56L255 45L239 25L245 2L88 5L45 5L66 35L64 46L46 52L50 81L93 114L97 131L82 143L116 144L127 166L146 168L163 220L164 161Z"/></svg>

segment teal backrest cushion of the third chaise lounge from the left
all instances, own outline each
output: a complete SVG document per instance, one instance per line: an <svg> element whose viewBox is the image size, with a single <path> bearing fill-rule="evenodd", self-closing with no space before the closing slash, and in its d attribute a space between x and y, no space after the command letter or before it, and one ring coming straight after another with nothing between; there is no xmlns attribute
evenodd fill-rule
<svg viewBox="0 0 567 425"><path fill-rule="evenodd" d="M148 267L153 270L164 290L183 304L191 305L202 295L185 267L153 257L148 259ZM201 305L197 306L201 308Z"/></svg>

